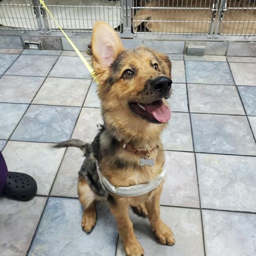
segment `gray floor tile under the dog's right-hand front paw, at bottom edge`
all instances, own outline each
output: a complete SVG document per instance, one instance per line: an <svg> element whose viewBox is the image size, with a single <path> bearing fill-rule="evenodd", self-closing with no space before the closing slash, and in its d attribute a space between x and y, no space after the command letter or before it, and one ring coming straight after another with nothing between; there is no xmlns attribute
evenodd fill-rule
<svg viewBox="0 0 256 256"><path fill-rule="evenodd" d="M147 219L131 215L135 234L147 256L203 256L200 211L193 209L161 207L163 221L173 230L174 246L160 245L150 229ZM120 237L116 256L125 256Z"/></svg>

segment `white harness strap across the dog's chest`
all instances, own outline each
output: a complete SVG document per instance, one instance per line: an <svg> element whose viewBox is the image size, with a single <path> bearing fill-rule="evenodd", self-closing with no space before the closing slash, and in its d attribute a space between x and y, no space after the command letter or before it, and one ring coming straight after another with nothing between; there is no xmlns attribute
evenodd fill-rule
<svg viewBox="0 0 256 256"><path fill-rule="evenodd" d="M163 180L165 179L164 176L166 172L166 167L163 165L162 172L158 176L156 176L154 180L152 180L151 182L128 186L128 187L115 187L100 172L100 169L98 167L98 161L96 161L96 167L97 167L97 172L98 172L98 176L99 176L99 180L102 188L106 192L109 191L113 194L123 196L123 197L136 197L136 196L147 194L148 192L158 187L161 182L163 182Z"/></svg>

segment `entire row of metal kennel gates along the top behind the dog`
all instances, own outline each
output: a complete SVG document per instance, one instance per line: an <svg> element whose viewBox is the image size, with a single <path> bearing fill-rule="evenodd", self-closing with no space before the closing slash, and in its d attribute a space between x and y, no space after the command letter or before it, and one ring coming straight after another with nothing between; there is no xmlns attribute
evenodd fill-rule
<svg viewBox="0 0 256 256"><path fill-rule="evenodd" d="M61 4L60 4L61 3ZM256 0L45 0L71 36L105 20L121 37L256 41ZM39 0L0 0L0 35L62 36Z"/></svg>

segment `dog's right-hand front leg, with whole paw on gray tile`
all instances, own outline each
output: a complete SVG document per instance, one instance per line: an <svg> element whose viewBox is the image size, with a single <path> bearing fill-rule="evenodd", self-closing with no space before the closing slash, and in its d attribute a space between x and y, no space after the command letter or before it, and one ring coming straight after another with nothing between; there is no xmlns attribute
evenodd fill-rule
<svg viewBox="0 0 256 256"><path fill-rule="evenodd" d="M171 228L165 225L160 218L160 195L162 192L162 187L163 185L161 184L156 189L156 192L151 200L146 202L148 219L159 243L162 245L174 245L175 240Z"/></svg>

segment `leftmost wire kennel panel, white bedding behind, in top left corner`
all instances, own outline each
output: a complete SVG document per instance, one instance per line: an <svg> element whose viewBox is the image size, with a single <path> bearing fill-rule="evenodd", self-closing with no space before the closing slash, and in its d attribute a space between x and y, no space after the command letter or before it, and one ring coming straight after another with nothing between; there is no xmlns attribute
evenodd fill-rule
<svg viewBox="0 0 256 256"><path fill-rule="evenodd" d="M39 30L32 0L2 0L0 30Z"/></svg>

